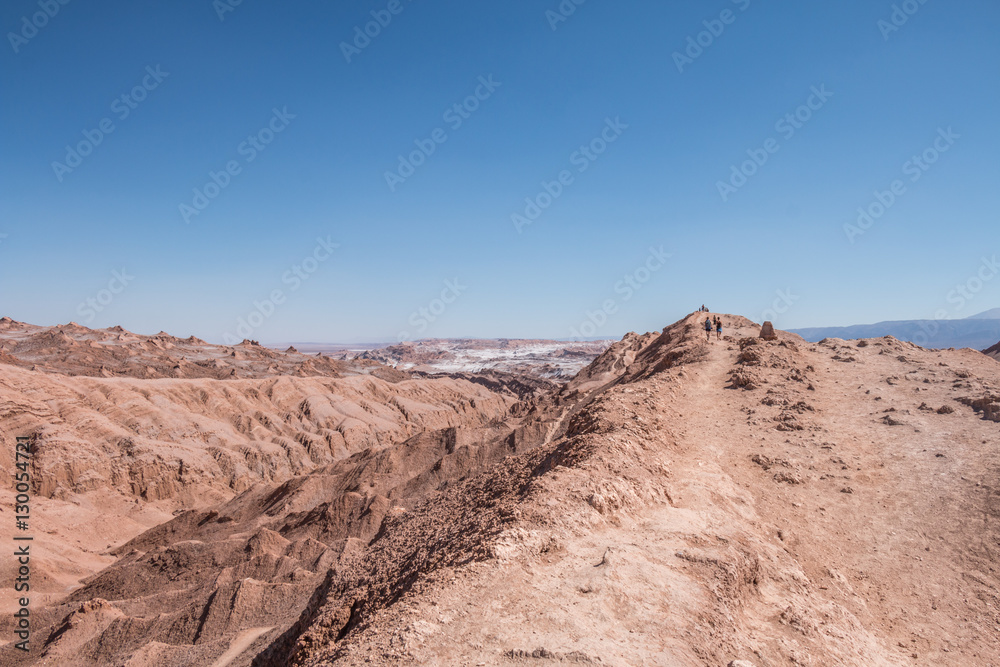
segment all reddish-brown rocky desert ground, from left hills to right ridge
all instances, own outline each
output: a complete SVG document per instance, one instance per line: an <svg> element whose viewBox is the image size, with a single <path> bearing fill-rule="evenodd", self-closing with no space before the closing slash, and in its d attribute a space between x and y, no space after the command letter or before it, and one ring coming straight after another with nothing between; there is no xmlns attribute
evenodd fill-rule
<svg viewBox="0 0 1000 667"><path fill-rule="evenodd" d="M1000 666L995 356L703 317L561 384L5 320L0 663Z"/></svg>

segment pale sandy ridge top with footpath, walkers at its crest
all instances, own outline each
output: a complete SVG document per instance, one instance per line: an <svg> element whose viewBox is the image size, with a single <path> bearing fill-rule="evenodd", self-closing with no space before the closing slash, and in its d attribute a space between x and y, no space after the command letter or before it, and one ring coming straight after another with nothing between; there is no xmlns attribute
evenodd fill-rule
<svg viewBox="0 0 1000 667"><path fill-rule="evenodd" d="M706 342L703 317L560 415L553 456L592 449L532 482L535 520L494 559L298 664L1000 665L980 479L997 425L956 401L995 364L894 339L741 345L759 326L726 315Z"/></svg>

